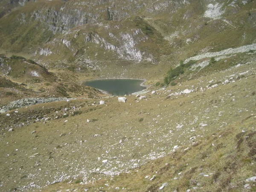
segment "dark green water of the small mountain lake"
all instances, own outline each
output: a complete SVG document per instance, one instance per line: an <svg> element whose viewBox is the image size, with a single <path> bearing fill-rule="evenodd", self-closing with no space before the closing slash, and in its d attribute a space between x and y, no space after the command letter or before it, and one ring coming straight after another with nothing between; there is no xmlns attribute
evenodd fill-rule
<svg viewBox="0 0 256 192"><path fill-rule="evenodd" d="M123 96L145 89L140 86L142 83L143 80L139 79L100 79L85 81L83 85L105 90L114 96Z"/></svg>

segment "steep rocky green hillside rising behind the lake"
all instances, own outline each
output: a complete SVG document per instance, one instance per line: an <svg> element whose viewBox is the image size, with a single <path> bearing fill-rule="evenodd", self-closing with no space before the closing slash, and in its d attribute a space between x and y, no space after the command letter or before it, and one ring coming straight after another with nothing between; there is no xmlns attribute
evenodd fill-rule
<svg viewBox="0 0 256 192"><path fill-rule="evenodd" d="M97 69L103 77L141 71L151 78L148 73L159 65L167 69L170 60L255 43L251 0L24 0L6 3L4 10L14 5L0 19L3 50L29 53L47 68Z"/></svg>

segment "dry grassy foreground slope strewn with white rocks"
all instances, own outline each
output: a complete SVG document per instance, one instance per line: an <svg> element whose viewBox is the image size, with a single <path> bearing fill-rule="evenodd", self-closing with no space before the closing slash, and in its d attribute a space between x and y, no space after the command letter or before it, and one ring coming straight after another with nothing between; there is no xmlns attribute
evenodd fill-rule
<svg viewBox="0 0 256 192"><path fill-rule="evenodd" d="M255 71L250 62L126 103L78 99L0 114L1 190L245 190L256 171Z"/></svg>

